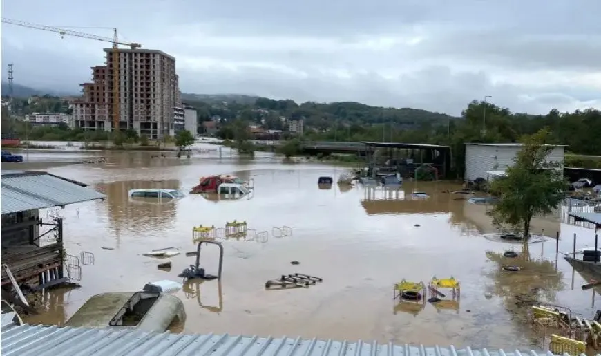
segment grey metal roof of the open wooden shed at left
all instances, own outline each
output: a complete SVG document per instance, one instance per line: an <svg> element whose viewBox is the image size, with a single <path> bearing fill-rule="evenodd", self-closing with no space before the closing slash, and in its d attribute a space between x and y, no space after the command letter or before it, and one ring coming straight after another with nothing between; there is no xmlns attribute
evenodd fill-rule
<svg viewBox="0 0 601 356"><path fill-rule="evenodd" d="M2 214L106 197L93 189L68 182L46 172L3 172L0 185Z"/></svg>

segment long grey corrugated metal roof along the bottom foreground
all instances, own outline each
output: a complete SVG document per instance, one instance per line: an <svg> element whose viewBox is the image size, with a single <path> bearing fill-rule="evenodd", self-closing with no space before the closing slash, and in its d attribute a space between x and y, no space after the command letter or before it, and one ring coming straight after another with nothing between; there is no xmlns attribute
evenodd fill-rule
<svg viewBox="0 0 601 356"><path fill-rule="evenodd" d="M457 349L453 346L410 346L363 341L301 339L300 337L242 337L187 335L171 332L2 325L3 356L75 355L321 355L321 356L551 356L536 351ZM567 356L567 354L565 354ZM584 354L583 354L584 355Z"/></svg>

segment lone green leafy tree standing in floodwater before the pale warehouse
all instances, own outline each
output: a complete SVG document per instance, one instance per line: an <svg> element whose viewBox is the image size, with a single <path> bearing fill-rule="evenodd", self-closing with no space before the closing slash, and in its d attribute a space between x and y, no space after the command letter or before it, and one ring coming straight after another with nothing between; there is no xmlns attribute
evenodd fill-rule
<svg viewBox="0 0 601 356"><path fill-rule="evenodd" d="M508 224L530 236L530 222L538 214L549 214L564 198L567 182L561 162L548 162L553 146L546 144L550 134L542 129L532 135L517 153L515 165L504 178L494 180L490 193L499 197L490 215L497 225Z"/></svg>

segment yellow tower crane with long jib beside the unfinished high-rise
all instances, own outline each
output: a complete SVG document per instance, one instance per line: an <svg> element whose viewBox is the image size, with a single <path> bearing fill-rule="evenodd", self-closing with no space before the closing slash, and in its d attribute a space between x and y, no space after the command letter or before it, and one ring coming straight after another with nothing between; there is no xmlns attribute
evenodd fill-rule
<svg viewBox="0 0 601 356"><path fill-rule="evenodd" d="M90 35L84 32L65 30L64 28L58 28L55 26L46 26L39 24L32 24L26 21L19 21L13 19L7 19L6 17L2 17L2 22L4 24L12 24L17 26L23 26L28 28L35 28L36 30L44 30L49 32L55 32L61 35L63 38L65 35L73 36L73 37L82 37L87 39L95 39L96 41L109 42L113 44L113 126L115 132L119 131L119 122L120 122L120 105L119 105L119 45L129 46L131 49L135 50L136 48L140 48L142 45L136 43L126 43L120 42L117 37L117 28L113 28L113 38L111 37L102 37L97 35Z"/></svg>

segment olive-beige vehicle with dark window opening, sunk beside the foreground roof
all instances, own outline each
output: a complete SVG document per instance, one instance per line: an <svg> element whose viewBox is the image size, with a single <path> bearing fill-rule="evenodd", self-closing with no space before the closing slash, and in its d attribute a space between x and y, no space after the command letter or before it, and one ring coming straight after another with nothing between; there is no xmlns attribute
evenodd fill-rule
<svg viewBox="0 0 601 356"><path fill-rule="evenodd" d="M164 332L172 321L185 321L184 303L156 291L96 294L70 317L65 326L135 329Z"/></svg>

